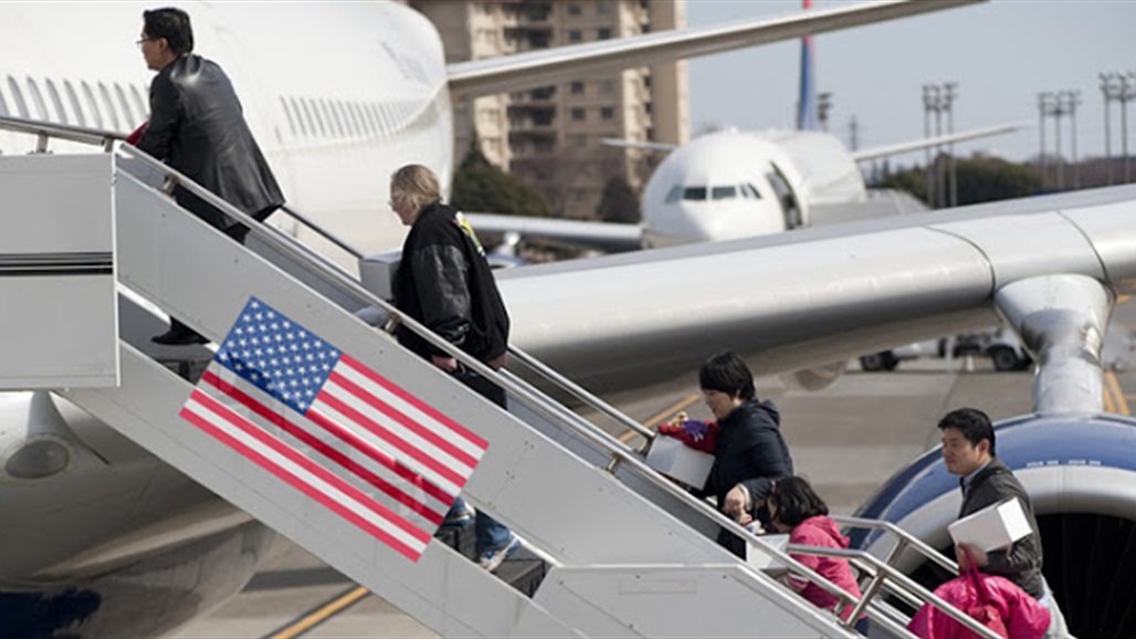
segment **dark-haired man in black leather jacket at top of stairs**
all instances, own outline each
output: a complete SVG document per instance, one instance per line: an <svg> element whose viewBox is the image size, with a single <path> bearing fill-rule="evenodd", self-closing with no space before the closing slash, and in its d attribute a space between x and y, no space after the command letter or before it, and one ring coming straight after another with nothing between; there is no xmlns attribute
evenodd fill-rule
<svg viewBox="0 0 1136 639"><path fill-rule="evenodd" d="M150 83L150 121L137 147L256 219L265 219L284 204L284 196L225 72L192 53L193 30L185 11L153 9L144 11L142 20L139 47L158 75ZM178 188L174 197L210 225L244 241L247 226L185 189ZM169 332L153 341L207 341L176 320L170 324Z"/></svg>

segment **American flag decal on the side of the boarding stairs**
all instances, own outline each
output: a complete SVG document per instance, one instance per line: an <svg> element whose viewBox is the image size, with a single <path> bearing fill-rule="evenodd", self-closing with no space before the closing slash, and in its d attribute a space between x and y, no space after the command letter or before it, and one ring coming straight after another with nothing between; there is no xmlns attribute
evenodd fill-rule
<svg viewBox="0 0 1136 639"><path fill-rule="evenodd" d="M488 448L254 297L179 415L415 562Z"/></svg>

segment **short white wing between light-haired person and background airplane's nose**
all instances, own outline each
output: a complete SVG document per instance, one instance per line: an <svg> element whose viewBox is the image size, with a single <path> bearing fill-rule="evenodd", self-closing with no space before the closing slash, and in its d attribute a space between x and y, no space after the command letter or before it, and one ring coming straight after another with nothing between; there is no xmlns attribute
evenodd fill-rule
<svg viewBox="0 0 1136 639"><path fill-rule="evenodd" d="M526 239L563 242L574 247L609 252L637 250L643 230L637 224L612 224L580 219L553 219L518 215L467 213L466 219L478 235L503 236L517 233Z"/></svg>

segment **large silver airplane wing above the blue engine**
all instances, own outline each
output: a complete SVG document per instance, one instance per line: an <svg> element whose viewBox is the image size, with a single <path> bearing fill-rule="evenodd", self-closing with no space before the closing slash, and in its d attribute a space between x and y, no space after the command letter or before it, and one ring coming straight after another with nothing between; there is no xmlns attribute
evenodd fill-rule
<svg viewBox="0 0 1136 639"><path fill-rule="evenodd" d="M997 323L1008 283L1136 282L1136 186L1008 200L499 273L512 341L596 392L692 379L736 350L761 374Z"/></svg>

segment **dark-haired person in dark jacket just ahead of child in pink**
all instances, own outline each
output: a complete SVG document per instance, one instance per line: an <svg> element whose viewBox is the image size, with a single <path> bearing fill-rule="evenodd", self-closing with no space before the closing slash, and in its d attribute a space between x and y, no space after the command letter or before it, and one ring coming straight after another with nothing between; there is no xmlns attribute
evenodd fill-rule
<svg viewBox="0 0 1136 639"><path fill-rule="evenodd" d="M780 413L759 401L753 374L735 352L715 355L699 371L699 385L718 421L713 466L700 496L713 495L718 508L740 522L769 524L766 493L774 480L793 474L793 458L780 434ZM745 542L722 530L718 542L745 556Z"/></svg>

